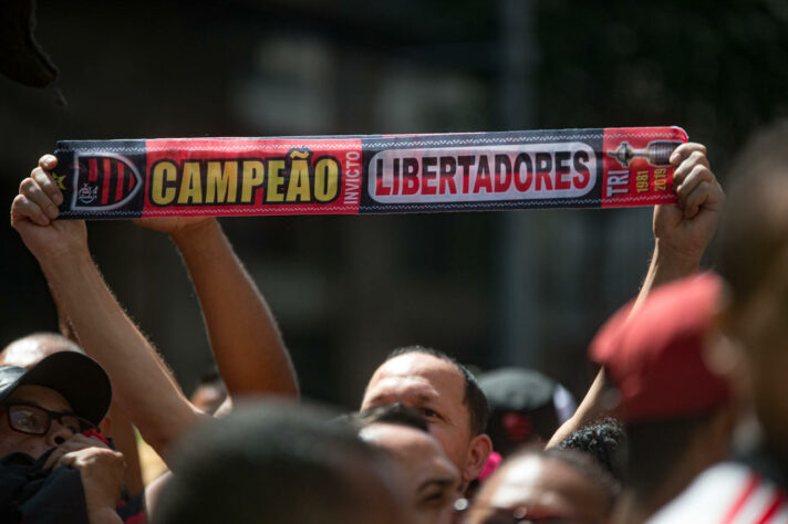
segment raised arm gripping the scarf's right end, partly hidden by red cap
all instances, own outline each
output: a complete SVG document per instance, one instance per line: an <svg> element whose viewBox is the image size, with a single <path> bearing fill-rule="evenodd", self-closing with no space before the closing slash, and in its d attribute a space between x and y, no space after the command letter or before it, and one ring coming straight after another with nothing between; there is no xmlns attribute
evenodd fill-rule
<svg viewBox="0 0 788 524"><path fill-rule="evenodd" d="M678 201L654 208L654 252L632 311L640 307L654 287L698 270L725 205L725 193L709 168L705 146L695 143L678 146L671 156L671 165L675 167L673 190ZM609 410L608 389L604 369L600 369L574 415L556 431L548 447L604 415Z"/></svg>

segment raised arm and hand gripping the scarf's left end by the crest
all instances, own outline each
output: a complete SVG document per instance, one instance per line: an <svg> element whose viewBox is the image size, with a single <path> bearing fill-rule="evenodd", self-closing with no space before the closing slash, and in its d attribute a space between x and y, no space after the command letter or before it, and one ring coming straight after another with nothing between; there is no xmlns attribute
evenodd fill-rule
<svg viewBox="0 0 788 524"><path fill-rule="evenodd" d="M60 190L46 155L20 185L11 224L39 261L85 352L112 380L114 398L145 440L167 460L174 440L205 415L184 397L148 340L126 316L93 263L85 223L54 220Z"/></svg>

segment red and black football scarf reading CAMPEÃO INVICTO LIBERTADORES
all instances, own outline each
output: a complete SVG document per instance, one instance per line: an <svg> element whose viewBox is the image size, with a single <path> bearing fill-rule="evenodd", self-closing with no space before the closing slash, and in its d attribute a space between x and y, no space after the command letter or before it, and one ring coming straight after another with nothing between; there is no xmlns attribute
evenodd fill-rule
<svg viewBox="0 0 788 524"><path fill-rule="evenodd" d="M675 202L678 127L65 140L62 218L364 214Z"/></svg>

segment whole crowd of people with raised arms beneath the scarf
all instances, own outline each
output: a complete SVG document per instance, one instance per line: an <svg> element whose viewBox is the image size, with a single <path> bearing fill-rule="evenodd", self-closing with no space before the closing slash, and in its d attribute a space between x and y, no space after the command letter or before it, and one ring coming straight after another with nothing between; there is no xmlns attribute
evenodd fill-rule
<svg viewBox="0 0 788 524"><path fill-rule="evenodd" d="M788 123L755 136L727 201L704 146L674 151L677 203L654 209L651 265L590 342L600 371L578 406L536 371L476 377L450 348L411 346L353 413L300 399L215 219L141 219L183 255L224 384L187 398L85 223L58 220L45 155L11 224L61 333L0 354L0 522L788 523L787 151ZM720 221L716 273L702 271ZM152 482L133 428L166 464Z"/></svg>

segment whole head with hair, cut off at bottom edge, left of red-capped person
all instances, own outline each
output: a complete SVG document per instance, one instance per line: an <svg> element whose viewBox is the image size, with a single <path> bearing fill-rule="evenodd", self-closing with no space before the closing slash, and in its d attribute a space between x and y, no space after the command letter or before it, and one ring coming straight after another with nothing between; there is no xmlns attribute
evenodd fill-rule
<svg viewBox="0 0 788 524"><path fill-rule="evenodd" d="M601 524L608 522L618 493L616 482L590 457L572 450L525 450L481 486L467 522L517 515Z"/></svg>

